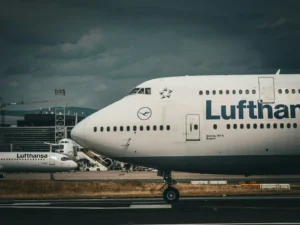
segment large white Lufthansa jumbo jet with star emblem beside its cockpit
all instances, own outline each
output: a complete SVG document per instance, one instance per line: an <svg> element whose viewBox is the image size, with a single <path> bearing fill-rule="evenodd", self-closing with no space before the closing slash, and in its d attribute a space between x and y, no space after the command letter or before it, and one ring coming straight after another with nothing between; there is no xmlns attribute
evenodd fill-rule
<svg viewBox="0 0 300 225"><path fill-rule="evenodd" d="M157 169L167 185L164 200L176 202L171 171L299 174L299 129L300 75L278 70L152 79L78 123L71 137Z"/></svg>

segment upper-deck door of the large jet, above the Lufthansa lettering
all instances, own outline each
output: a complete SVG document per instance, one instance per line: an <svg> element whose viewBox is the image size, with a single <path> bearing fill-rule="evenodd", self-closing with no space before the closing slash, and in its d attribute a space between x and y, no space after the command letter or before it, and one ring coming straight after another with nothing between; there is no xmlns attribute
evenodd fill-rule
<svg viewBox="0 0 300 225"><path fill-rule="evenodd" d="M259 102L260 103L274 103L275 90L273 77L259 77Z"/></svg>

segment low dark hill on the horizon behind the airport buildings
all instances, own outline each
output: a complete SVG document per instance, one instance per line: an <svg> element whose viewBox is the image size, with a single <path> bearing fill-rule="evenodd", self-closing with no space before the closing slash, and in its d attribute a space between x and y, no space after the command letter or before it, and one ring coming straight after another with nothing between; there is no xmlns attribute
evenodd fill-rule
<svg viewBox="0 0 300 225"><path fill-rule="evenodd" d="M90 108L83 108L83 107L66 107L66 115L74 115L76 112L78 113L78 116L89 116L96 112L98 110L96 109L90 109ZM33 110L5 110L5 115L7 116L18 116L22 117L25 114L50 114L50 113L55 113L55 107L50 108L43 108L42 110L40 109L33 109Z"/></svg>

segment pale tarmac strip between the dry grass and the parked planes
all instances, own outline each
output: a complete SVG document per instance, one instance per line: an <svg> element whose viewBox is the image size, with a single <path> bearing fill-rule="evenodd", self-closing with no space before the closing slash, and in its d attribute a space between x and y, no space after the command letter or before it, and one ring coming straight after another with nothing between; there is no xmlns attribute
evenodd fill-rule
<svg viewBox="0 0 300 225"><path fill-rule="evenodd" d="M274 175L274 176L250 176L240 175L212 175L173 172L173 178L178 182L190 182L193 180L227 180L229 183L256 181L257 183L300 183L300 175ZM105 172L70 172L55 173L56 180L66 181L128 181L139 180L145 182L162 182L162 177L157 172L147 171L105 171ZM36 179L49 180L49 174L42 173L6 173L4 180Z"/></svg>

